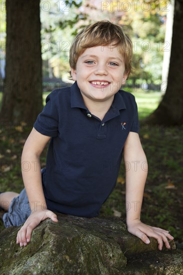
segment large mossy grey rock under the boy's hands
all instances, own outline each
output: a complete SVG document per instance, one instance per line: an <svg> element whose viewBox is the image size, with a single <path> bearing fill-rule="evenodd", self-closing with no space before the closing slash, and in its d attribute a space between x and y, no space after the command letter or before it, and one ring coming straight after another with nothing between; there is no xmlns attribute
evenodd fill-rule
<svg viewBox="0 0 183 275"><path fill-rule="evenodd" d="M158 251L157 241L144 244L127 232L117 217L83 218L58 214L42 221L26 247L16 244L20 227L0 234L0 274L182 274L183 251Z"/></svg>

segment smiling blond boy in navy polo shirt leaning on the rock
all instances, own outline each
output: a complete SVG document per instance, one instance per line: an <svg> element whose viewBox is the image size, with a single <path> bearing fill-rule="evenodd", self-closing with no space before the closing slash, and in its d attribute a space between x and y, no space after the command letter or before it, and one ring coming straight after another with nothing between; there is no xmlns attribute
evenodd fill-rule
<svg viewBox="0 0 183 275"><path fill-rule="evenodd" d="M139 163L137 170L134 165L126 168L126 202L131 205L126 210L127 229L145 243L148 236L156 238L160 250L163 242L170 248L167 238L173 237L167 230L140 221L147 162L134 96L119 90L131 71L131 57L130 38L107 20L86 26L73 40L69 64L75 82L47 96L25 142L21 162L31 163L22 169L25 189L19 196L0 194L1 201L11 202L3 216L5 226L24 222L16 238L20 246L27 245L41 220L57 222L53 211L98 215L115 186L123 152L125 163ZM41 170L39 156L49 140Z"/></svg>

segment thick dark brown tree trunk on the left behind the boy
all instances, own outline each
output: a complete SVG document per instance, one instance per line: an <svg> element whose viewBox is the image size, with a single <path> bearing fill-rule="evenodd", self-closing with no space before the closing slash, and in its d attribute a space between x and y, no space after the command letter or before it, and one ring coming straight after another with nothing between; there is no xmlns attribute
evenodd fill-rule
<svg viewBox="0 0 183 275"><path fill-rule="evenodd" d="M39 12L39 0L6 0L2 125L32 126L42 109Z"/></svg>

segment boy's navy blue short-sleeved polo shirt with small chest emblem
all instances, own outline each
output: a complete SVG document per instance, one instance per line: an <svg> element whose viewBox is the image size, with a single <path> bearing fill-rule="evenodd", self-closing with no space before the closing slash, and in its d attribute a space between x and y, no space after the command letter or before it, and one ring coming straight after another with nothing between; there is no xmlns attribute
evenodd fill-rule
<svg viewBox="0 0 183 275"><path fill-rule="evenodd" d="M47 208L93 217L113 190L129 131L138 132L134 96L119 90L100 120L77 83L53 90L34 128L51 136L42 184Z"/></svg>

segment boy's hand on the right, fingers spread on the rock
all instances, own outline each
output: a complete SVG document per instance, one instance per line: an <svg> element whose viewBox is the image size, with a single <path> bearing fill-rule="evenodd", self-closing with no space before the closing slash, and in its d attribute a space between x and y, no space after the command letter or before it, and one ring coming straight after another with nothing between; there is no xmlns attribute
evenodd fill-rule
<svg viewBox="0 0 183 275"><path fill-rule="evenodd" d="M169 231L144 224L140 220L133 220L127 223L127 230L131 234L141 238L141 240L146 244L150 242L148 237L156 238L159 250L162 249L163 242L166 248L170 248L167 238L173 239L173 236L169 234Z"/></svg>

